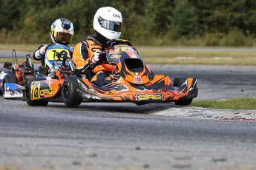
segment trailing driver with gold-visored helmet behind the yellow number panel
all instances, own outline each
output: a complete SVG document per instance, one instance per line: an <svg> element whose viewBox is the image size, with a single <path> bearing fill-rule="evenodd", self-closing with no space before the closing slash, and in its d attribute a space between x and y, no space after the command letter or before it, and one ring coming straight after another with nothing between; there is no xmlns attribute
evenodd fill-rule
<svg viewBox="0 0 256 170"><path fill-rule="evenodd" d="M74 30L73 23L66 18L56 19L50 26L50 38L53 44L62 44L68 46L73 38ZM36 61L42 61L42 66L45 66L45 51L53 44L43 44L33 54L33 58ZM70 47L70 53L72 54L73 48Z"/></svg>

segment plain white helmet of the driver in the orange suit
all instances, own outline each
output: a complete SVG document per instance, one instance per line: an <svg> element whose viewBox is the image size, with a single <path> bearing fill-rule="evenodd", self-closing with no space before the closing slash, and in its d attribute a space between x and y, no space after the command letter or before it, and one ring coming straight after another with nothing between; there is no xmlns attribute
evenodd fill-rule
<svg viewBox="0 0 256 170"><path fill-rule="evenodd" d="M108 39L118 39L122 31L122 14L114 7L101 7L93 18L93 29Z"/></svg>

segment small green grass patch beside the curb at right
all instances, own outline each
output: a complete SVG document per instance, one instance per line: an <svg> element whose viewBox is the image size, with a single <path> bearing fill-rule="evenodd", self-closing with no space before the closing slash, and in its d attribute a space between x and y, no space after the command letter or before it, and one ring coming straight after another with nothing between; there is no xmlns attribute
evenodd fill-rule
<svg viewBox="0 0 256 170"><path fill-rule="evenodd" d="M256 109L256 98L235 98L226 101L193 101L190 106L212 109Z"/></svg>

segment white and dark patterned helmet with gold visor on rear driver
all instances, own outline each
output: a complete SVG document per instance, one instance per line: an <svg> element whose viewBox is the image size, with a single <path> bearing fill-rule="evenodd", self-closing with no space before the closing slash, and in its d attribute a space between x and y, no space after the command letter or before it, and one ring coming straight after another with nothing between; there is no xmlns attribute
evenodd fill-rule
<svg viewBox="0 0 256 170"><path fill-rule="evenodd" d="M50 26L50 38L53 43L68 45L74 34L73 23L68 19L56 19Z"/></svg>

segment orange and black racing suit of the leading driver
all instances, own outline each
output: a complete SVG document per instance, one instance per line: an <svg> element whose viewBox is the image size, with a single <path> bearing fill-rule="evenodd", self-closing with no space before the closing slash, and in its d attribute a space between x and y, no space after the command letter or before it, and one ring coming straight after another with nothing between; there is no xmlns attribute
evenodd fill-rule
<svg viewBox="0 0 256 170"><path fill-rule="evenodd" d="M76 44L73 50L73 62L76 64L76 69L79 72L85 73L91 83L97 86L104 86L110 84L113 80L111 78L111 72L115 69L114 66L109 64L102 64L101 62L95 64L92 62L92 57L96 50L100 48L108 40L100 34L90 35L86 38L86 41ZM105 52L108 49L105 49Z"/></svg>

